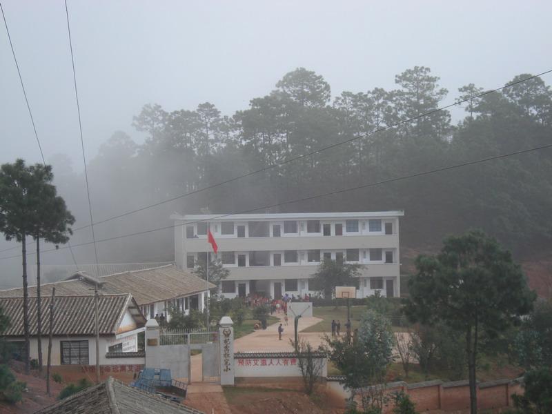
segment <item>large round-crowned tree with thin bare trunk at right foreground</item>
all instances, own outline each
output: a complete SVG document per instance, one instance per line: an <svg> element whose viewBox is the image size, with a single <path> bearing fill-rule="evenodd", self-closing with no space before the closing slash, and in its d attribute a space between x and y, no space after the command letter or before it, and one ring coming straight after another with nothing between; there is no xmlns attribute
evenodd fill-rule
<svg viewBox="0 0 552 414"><path fill-rule="evenodd" d="M466 337L471 413L477 413L477 344L531 311L535 294L520 266L495 239L480 230L444 240L441 253L420 255L408 281L404 311L413 322L446 325Z"/></svg>

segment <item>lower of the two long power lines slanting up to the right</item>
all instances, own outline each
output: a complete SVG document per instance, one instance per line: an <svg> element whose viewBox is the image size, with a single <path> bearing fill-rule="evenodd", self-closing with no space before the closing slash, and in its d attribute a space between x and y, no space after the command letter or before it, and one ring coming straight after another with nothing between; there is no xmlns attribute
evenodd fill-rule
<svg viewBox="0 0 552 414"><path fill-rule="evenodd" d="M372 183L362 184L362 185L359 185L359 186L342 188L341 190L334 190L334 191L330 191L328 193L321 193L321 194L317 194L317 195L311 195L311 196L308 196L308 197L302 197L302 198L299 198L299 199L288 200L288 201L284 201L282 203L271 204L271 205L268 205L268 206L255 207L255 208L250 208L248 210L236 211L234 213L217 215L215 217L209 217L209 219L188 221L185 224L174 224L174 225L171 225L171 226L164 226L164 227L152 228L150 230L142 230L142 231L138 231L138 232L135 232L135 233L128 233L126 235L108 237L106 239L97 240L97 243L110 242L112 240L124 239L126 237L132 237L132 236L137 236L137 235L144 235L144 234L148 234L148 233L153 233L153 232L159 231L159 230L168 230L169 228L175 228L175 227L189 225L189 224L195 224L195 223L202 223L202 222L206 222L206 221L210 221L210 220L216 220L216 219L221 219L221 218L224 218L224 217L230 217L230 216L237 215L237 214L251 213L252 211L264 210L266 208L273 208L273 207L277 207L277 206L285 206L287 204L294 204L294 203L298 203L300 201L308 201L308 200L317 199L317 198L320 198L320 197L327 197L329 195L347 193L348 191L359 190L361 188L380 186L382 184L389 184L389 183L392 183L392 182L395 182L395 181L402 181L402 180L405 180L405 179L411 179L411 178L415 178L415 177L422 177L424 175L431 175L431 174L435 174L437 172L443 172L443 171L446 171L446 170L454 170L454 169L462 168L462 167L465 167L465 166L472 166L472 165L475 165L475 164L482 164L484 162L493 161L495 159L503 159L503 158L511 157L513 155L520 155L520 154L524 154L526 152L544 150L546 148L552 148L552 144L547 144L547 145L533 147L533 148L526 148L524 150L517 150L517 151L514 151L514 152L508 152L506 154L494 155L493 157L486 157L486 158L482 158L482 159L476 159L476 160L473 160L473 161L466 161L466 162L463 162L461 164L453 164L452 166L446 166L446 167L442 167L442 168L435 168L433 170L415 172L415 173L409 174L409 175L402 175L401 177L384 179L382 181L375 181L375 182L372 182ZM75 247L77 247L77 246L87 246L88 244L92 244L92 242L85 242L85 243L81 243L81 244L76 244ZM45 250L43 253L48 253L50 251L55 251L55 250L56 249ZM0 257L0 260L2 260L2 259L11 259L13 257L19 257L19 255Z"/></svg>

